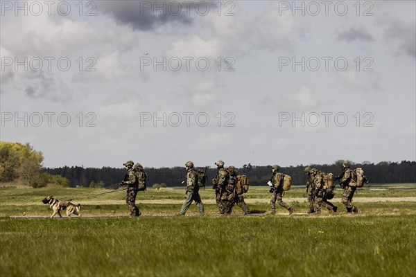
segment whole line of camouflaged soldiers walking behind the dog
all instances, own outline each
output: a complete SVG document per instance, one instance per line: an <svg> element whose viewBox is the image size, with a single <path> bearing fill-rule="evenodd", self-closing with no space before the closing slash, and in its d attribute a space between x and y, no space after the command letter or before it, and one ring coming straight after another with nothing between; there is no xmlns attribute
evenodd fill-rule
<svg viewBox="0 0 416 277"><path fill-rule="evenodd" d="M128 186L126 204L130 209L130 215L138 217L141 213L135 205L137 191L146 189L148 175L139 163L135 166L133 165L133 161L123 163L127 173L124 180L120 183L120 186ZM245 175L238 175L234 166L225 168L224 161L217 161L215 165L217 166L217 175L212 179L212 188L215 190L219 213L229 215L232 213L234 205L237 204L243 210L243 214L249 214L250 208L248 208L243 197L243 193L248 190L248 179L247 187L245 187L246 183L243 180L246 178ZM185 168L187 169L187 199L182 205L180 212L176 215L185 215L192 202L196 202L200 215L205 215L204 205L199 194L200 184L198 184L198 172L192 161L185 163ZM272 177L269 183L270 193L272 194L270 199L270 214L274 215L276 213L277 202L277 204L286 208L289 215L291 215L293 213L293 206L283 201L285 175L279 172L279 169L280 167L277 165L272 166ZM309 214L319 214L322 206L327 208L330 213L336 213L338 207L329 202L334 196L333 190L335 185L333 181L335 180L339 180L340 186L344 189L341 201L345 205L345 208L347 208L347 213L358 213L358 208L352 204L352 197L356 191L356 186L354 186L355 173L350 169L348 161L343 162L342 170L342 175L334 177L332 173L325 174L316 168L305 168L304 172L308 179L306 182L306 192L309 203ZM368 183L365 176L363 177L363 181Z"/></svg>

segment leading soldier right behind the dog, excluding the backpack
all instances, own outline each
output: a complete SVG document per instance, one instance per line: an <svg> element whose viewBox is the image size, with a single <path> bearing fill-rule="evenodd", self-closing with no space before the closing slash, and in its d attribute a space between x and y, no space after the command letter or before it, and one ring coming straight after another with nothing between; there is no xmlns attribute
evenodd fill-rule
<svg viewBox="0 0 416 277"><path fill-rule="evenodd" d="M137 196L137 185L139 182L137 181L137 177L135 171L133 170L133 161L126 161L123 163L127 173L125 173L124 180L119 184L120 186L128 186L127 188L127 195L125 195L125 203L127 204L128 208L130 209L130 216L138 217L141 215L139 208L137 208L136 196Z"/></svg>

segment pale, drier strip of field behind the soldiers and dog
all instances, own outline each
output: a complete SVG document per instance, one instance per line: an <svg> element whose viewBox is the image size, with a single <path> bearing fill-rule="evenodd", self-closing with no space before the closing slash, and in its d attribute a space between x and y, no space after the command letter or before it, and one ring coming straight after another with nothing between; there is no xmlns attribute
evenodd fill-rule
<svg viewBox="0 0 416 277"><path fill-rule="evenodd" d="M416 185L415 185L416 186ZM340 211L345 209L340 203L342 190L336 190L336 197L331 200L340 207ZM46 195L53 195L57 199L73 199L74 204L82 205L81 212L83 215L126 215L128 208L125 205L125 190L113 191L95 188L0 188L0 216L11 215L51 215L52 211L48 205L42 204L41 200ZM218 208L214 203L214 191L207 188L200 190L202 202L205 202L207 213L218 213ZM147 214L155 213L177 213L180 211L182 201L187 196L183 188L169 190L153 190L139 192L137 195L137 205L141 212ZM403 190L363 190L359 189L355 199L358 197L382 197L388 200L390 197L414 197L416 199L416 190L408 187ZM296 198L296 199L295 199ZM270 193L264 187L252 187L249 193L245 194L245 199L250 199L250 209L256 213L266 213L270 211L268 199ZM153 200L159 200L159 204L148 203ZM257 202L257 200L259 202ZM175 204L169 202L175 201ZM293 188L286 192L284 201L293 204L295 213L306 213L308 206L306 204L306 191L304 188ZM96 202L96 204L94 203ZM383 204L383 201L376 203L356 202L356 206L365 214L369 213L410 213L415 211L415 202L395 202L394 204ZM21 205L23 204L23 205ZM189 213L198 213L196 205L192 205ZM234 214L240 214L241 208L234 206ZM284 208L277 206L277 213L286 213ZM326 212L325 212L326 213ZM64 213L63 213L64 214Z"/></svg>

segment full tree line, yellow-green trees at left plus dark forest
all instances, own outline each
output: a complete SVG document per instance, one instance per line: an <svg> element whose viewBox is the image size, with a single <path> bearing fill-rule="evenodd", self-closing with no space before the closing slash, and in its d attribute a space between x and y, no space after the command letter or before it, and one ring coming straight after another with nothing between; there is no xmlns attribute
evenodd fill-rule
<svg viewBox="0 0 416 277"><path fill-rule="evenodd" d="M58 186L83 186L92 188L117 188L125 175L124 168L84 168L83 166L64 166L62 168L43 168L43 154L33 149L29 143L10 143L0 141L0 182L21 181L26 186L40 188L48 184ZM380 163L354 163L352 168L363 168L367 179L372 184L391 183L415 183L416 161ZM340 175L340 166L343 160L335 161L333 164L312 164L311 168L318 168L323 172L332 172ZM231 166L225 164L225 166ZM240 175L247 175L252 186L264 186L271 177L270 166L252 166L251 163L239 166L234 165ZM306 184L304 168L306 166L289 166L281 168L281 172L291 175L295 186ZM216 176L216 168L202 168L207 172L207 186L211 179ZM182 186L186 171L184 166L173 168L145 168L150 181L148 186ZM370 184L371 185L371 184Z"/></svg>

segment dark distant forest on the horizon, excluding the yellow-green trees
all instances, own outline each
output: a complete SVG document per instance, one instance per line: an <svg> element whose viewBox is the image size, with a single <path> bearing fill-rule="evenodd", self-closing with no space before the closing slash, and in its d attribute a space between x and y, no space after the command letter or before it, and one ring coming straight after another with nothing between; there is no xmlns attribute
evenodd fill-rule
<svg viewBox="0 0 416 277"><path fill-rule="evenodd" d="M334 175L340 175L340 165L343 160L338 160L331 165L309 165L311 168L318 168L323 172L332 172ZM401 161L380 163L353 163L352 169L363 168L367 179L371 184L391 184L391 183L416 183L416 161ZM227 164L226 164L227 166ZM234 165L235 166L235 165ZM303 186L306 184L306 175L304 168L306 166L290 166L281 168L281 172L291 175L294 186ZM237 168L237 166L236 166ZM116 188L125 175L124 168L83 168L79 166L63 168L43 168L43 172L51 175L60 175L69 180L70 186L87 187L92 181L103 182L105 188ZM186 170L184 167L174 168L145 168L150 181L148 186L153 184L166 184L168 187L183 186L182 181L185 179ZM216 176L216 168L207 168L207 186L211 186L211 179ZM250 163L238 168L240 175L247 175L252 186L264 186L271 176L271 166L252 166Z"/></svg>

